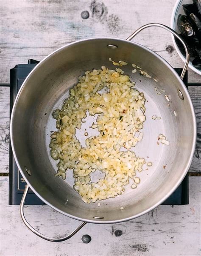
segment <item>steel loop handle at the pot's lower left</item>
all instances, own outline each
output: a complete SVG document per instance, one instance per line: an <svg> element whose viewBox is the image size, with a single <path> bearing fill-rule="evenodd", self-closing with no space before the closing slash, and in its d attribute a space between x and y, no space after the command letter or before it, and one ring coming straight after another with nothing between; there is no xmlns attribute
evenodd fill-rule
<svg viewBox="0 0 201 256"><path fill-rule="evenodd" d="M21 215L22 221L28 227L28 229L31 230L37 236L39 236L47 241L50 241L50 242L62 242L62 241L65 241L65 240L71 238L72 236L74 236L82 227L84 227L85 224L87 224L87 222L82 222L73 232L71 232L69 235L64 236L62 238L51 238L51 237L48 237L48 236L45 236L45 235L39 233L28 223L28 221L26 220L25 215L24 215L24 204L25 204L26 195L28 193L28 189L29 189L29 185L27 184L25 187L24 194L22 196L21 203L20 203L20 215Z"/></svg>

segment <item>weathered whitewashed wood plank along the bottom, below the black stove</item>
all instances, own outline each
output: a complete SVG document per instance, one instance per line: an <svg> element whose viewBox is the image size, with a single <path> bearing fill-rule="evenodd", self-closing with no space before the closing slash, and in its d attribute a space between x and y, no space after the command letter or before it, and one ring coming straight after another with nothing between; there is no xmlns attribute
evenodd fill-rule
<svg viewBox="0 0 201 256"><path fill-rule="evenodd" d="M8 206L7 177L0 177L0 188L1 256L200 255L200 177L190 177L189 205L162 205L140 218L119 224L87 224L61 243L42 240L25 227L19 206ZM48 206L25 207L25 216L48 236L63 236L78 225L78 221ZM84 234L91 236L89 244L81 241Z"/></svg>

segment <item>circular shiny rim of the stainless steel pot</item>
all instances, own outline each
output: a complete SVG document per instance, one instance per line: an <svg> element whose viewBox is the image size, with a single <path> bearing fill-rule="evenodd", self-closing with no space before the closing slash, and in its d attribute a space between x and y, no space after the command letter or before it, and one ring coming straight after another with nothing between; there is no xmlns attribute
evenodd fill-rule
<svg viewBox="0 0 201 256"><path fill-rule="evenodd" d="M128 218L124 218L124 219L118 219L116 221L104 221L104 219L94 219L94 220L89 220L89 219L83 219L83 218L79 218L79 217L76 217L74 215L71 215L69 213L65 213L64 211L62 210L59 210L57 207L53 206L52 204L50 204L48 201L46 201L44 198L42 198L42 196L34 189L34 187L29 183L28 181L28 178L26 178L25 176L25 171L22 170L22 168L20 167L20 164L17 160L17 156L16 156L16 152L15 152L15 149L14 149L14 143L13 143L13 118L14 118L14 112L16 110L16 105L17 105L17 101L20 97L20 93L23 89L23 87L25 86L25 84L27 83L28 79L33 75L33 73L35 72L36 69L39 69L40 65L42 65L42 63L45 62L45 60L47 60L48 58L50 58L53 54L61 51L62 49L64 48L67 48L67 47L70 47L71 45L73 44L77 44L77 43L81 43L81 42L85 42L85 41L89 41L89 40L118 40L118 41L123 41L124 43L131 43L133 45L137 45L137 46L140 46L141 48L147 50L148 52L150 52L151 54L153 54L156 58L159 58L162 62L165 63L165 65L173 72L173 74L176 76L176 78L179 80L181 86L182 86L182 89L184 90L185 92L185 97L187 98L189 104L190 104L190 109L191 109L191 112L192 112L192 115L193 115L193 143L192 143L192 148L191 148L191 152L190 152L190 155L189 155L189 160L188 160L188 163L187 163L187 166L185 167L184 169L184 172L183 174L181 175L181 177L179 178L179 180L176 182L175 186L169 191L168 194L166 194L161 200L159 200L156 204L152 205L151 207L149 207L147 210L144 210L143 212L141 213L138 213L134 216L130 216ZM195 151L195 145L196 145L196 119L195 119L195 111L194 111L194 108L193 108L193 103L191 101L191 98L190 98L190 95L189 95L189 92L186 88L186 86L184 85L184 82L181 80L181 78L179 77L178 73L173 69L172 66L170 66L170 64L165 60L163 59L160 55L158 55L156 52L148 49L147 47L145 46L142 46L141 44L139 43L135 43L135 42L132 42L132 41L128 41L128 40L125 40L125 39L120 39L120 38L115 38L115 37L93 37L93 38L88 38L88 39L84 39L84 40L78 40L78 41L75 41L73 43L69 43L65 46L62 46L60 47L59 49L56 49L55 51L51 52L49 55L47 55L45 58L43 58L34 68L33 70L29 73L29 75L25 78L25 81L22 83L22 86L19 90L19 92L17 93L17 96L16 96L16 99L14 101L14 105L13 105L13 109L12 109L12 112L11 112L11 119L10 119L10 141L11 141L11 147L12 147L12 151L13 151L13 155L14 155L14 158L15 158L15 161L16 161L16 164L17 164L17 167L19 168L20 170L20 173L22 174L22 177L25 179L26 183L31 187L31 190L33 190L33 192L36 194L36 196L38 196L43 202L45 202L45 204L49 205L51 208L53 208L54 210L58 211L59 213L62 213L64 214L65 216L68 216L72 219L76 219L78 221L84 221L84 222L89 222L89 223L94 223L94 224L112 224L112 223L119 223L119 222L123 222L123 221L128 221L128 220L131 220L131 219L135 219L137 217L140 217L142 215L144 215L145 213L148 213L149 211L153 210L154 208L156 208L157 206L159 206L160 204L162 204L163 201L165 201L173 192L174 190L176 190L176 188L181 184L181 181L184 179L184 176L186 175L186 173L188 172L189 170L189 167L190 167L190 164L193 160L193 154L194 154L194 151Z"/></svg>

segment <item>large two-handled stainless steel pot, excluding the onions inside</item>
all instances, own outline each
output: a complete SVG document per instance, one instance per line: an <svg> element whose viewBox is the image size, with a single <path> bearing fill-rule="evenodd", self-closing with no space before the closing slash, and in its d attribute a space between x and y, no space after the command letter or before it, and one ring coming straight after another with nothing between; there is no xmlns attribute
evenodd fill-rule
<svg viewBox="0 0 201 256"><path fill-rule="evenodd" d="M187 60L181 78L159 55L130 42L138 32L151 26L168 30L184 44ZM49 143L50 130L55 130L53 109L62 105L69 89L85 70L93 67L98 69L103 64L114 69L109 58L129 63L124 66L124 70L131 78L131 63L135 63L158 80L156 82L134 74L136 88L144 92L147 99L144 137L135 152L142 157L149 156L148 161L152 161L153 166L149 171L140 173L141 183L136 190L128 188L121 196L101 201L98 207L97 204L81 201L72 187L73 177L67 176L64 181L54 176L56 165L50 157ZM93 38L71 43L48 55L33 69L17 95L11 115L11 145L20 172L28 184L21 202L21 216L31 231L49 241L64 241L86 222L114 223L134 219L152 210L173 193L186 175L195 150L195 114L181 80L188 61L187 46L179 35L167 26L152 23L142 26L127 40ZM165 92L156 95L154 87L162 88ZM170 102L165 95L168 95ZM152 115L161 116L162 119L154 121ZM159 133L167 137L170 146L157 145ZM23 214L28 187L50 207L84 222L61 239L40 234L31 227ZM120 210L120 207L124 209Z"/></svg>

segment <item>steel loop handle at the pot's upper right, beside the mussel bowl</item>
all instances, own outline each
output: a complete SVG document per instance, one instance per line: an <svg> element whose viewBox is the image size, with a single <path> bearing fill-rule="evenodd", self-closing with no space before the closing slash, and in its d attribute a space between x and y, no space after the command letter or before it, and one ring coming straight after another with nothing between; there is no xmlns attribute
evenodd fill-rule
<svg viewBox="0 0 201 256"><path fill-rule="evenodd" d="M168 26L165 26L163 24L160 24L160 23L149 23L149 24L146 24L142 27L140 27L139 29L137 29L132 35L130 35L128 38L126 38L126 40L131 40L133 39L133 37L135 37L140 31L142 31L143 29L146 29L148 27L160 27L160 28L163 28L167 31L169 31L170 33L172 33L177 39L179 39L181 41L181 43L183 44L184 46L184 49L185 49L185 52L186 52L186 61L185 61L185 65L184 65L184 68L181 72L181 79L183 80L184 78L184 75L186 73L186 70L187 70L187 67L188 67L188 63L189 63L189 59L190 59L190 55L189 55L189 51L188 51L188 47L187 47L187 44L185 43L185 41L179 36L179 34L177 34L173 29L170 29Z"/></svg>

